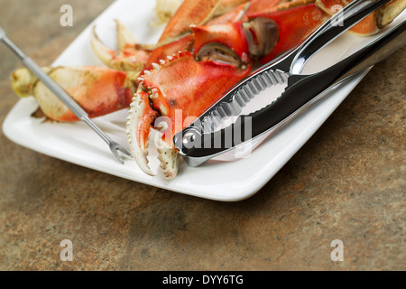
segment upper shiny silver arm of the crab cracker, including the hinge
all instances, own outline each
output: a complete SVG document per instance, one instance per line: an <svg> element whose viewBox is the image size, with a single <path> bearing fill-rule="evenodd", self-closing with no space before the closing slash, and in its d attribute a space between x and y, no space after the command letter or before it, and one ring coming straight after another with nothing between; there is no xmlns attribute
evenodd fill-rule
<svg viewBox="0 0 406 289"><path fill-rule="evenodd" d="M233 101L235 95L238 93L239 89L243 88L245 84L249 84L251 81L257 77L261 77L266 72L273 74L275 71L280 71L286 77L292 74L300 74L303 70L307 61L316 54L323 47L328 45L329 42L335 40L340 34L345 33L347 29L351 28L355 23L358 23L368 14L371 14L377 8L388 3L389 0L355 0L349 5L346 5L344 9L339 11L333 17L331 17L326 23L321 25L315 33L312 33L309 38L302 42L296 49L286 54L285 57L280 57L275 61L271 61L265 64L262 68L256 70L250 77L240 81L226 92L226 94L221 98L217 104L210 107L202 116L198 118L198 121L194 122L190 126L186 127L182 132L174 136L174 144L180 150L180 154L185 158L187 163L192 166L198 165L199 163L204 163L213 156L207 156L205 159L199 159L198 162L189 162L191 159L188 157L196 149L190 150L190 143L195 144L196 140L194 138L199 138L199 141L204 135L202 134L201 120L208 117L214 110L216 110L217 105L221 103L229 103ZM254 96L252 96L254 97ZM189 139L189 138L192 139ZM203 154L202 152L200 152ZM217 152L216 154L220 154Z"/></svg>

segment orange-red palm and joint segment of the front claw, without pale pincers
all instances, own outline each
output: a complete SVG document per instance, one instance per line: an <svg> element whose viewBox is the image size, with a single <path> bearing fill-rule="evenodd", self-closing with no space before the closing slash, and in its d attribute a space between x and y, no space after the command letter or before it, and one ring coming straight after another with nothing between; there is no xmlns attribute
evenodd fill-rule
<svg viewBox="0 0 406 289"><path fill-rule="evenodd" d="M141 85L152 91L153 107L170 117L172 122L175 121L177 109L184 112L183 121L199 116L226 89L245 78L252 68L241 23L192 26L191 30L196 39L194 54L179 52L168 63L162 62L141 78ZM213 57L210 55L216 50L210 49L213 43L216 43L217 50L227 47L235 56L231 56L231 59Z"/></svg>

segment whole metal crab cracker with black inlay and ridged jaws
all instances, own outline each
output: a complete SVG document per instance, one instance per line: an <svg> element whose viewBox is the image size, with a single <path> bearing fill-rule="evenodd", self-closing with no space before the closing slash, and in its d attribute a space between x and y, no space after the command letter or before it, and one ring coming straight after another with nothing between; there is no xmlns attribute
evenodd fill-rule
<svg viewBox="0 0 406 289"><path fill-rule="evenodd" d="M376 41L356 51L327 70L311 75L300 74L309 59L328 42L358 23L389 0L355 0L340 13L323 24L306 42L281 60L257 70L251 77L230 89L217 103L182 132L173 142L190 166L198 166L209 159L244 145L288 124L293 117L304 113L309 104L334 89L344 79L372 67L405 45L406 21L384 33ZM337 25L337 19L341 19ZM242 107L256 95L276 84L286 83L281 97L249 116L240 116ZM270 91L272 93L272 91ZM222 117L239 116L235 123L216 130ZM214 126L213 126L214 125ZM248 137L246 126L251 126ZM234 137L239 134L240 137ZM241 137L243 136L243 137ZM247 139L248 138L248 139Z"/></svg>

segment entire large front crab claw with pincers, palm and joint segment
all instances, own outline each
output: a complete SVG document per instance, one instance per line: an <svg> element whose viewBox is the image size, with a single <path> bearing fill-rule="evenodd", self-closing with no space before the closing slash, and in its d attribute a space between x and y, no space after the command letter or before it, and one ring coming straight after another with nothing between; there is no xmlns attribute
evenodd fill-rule
<svg viewBox="0 0 406 289"><path fill-rule="evenodd" d="M242 39L246 43L241 24L224 28L191 27L196 33L194 53L179 51L170 55L153 63L152 70L145 70L138 79L138 91L127 119L127 136L134 159L143 172L154 175L147 159L151 127L161 132L155 146L164 175L172 179L179 167L173 135L252 70L248 46L240 44ZM233 39L238 40L238 45L229 42Z"/></svg>

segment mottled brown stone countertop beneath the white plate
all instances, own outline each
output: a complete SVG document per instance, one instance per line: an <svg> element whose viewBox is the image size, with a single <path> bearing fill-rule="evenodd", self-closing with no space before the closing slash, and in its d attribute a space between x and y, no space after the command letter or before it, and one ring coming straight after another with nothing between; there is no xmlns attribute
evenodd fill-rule
<svg viewBox="0 0 406 289"><path fill-rule="evenodd" d="M0 25L40 65L112 0L3 0ZM60 26L72 5L73 27ZM377 64L272 181L224 203L32 152L0 133L0 270L404 270L405 49ZM0 46L0 121L21 67ZM60 242L73 242L73 261ZM333 262L331 242L343 241Z"/></svg>

